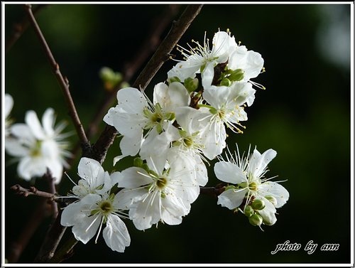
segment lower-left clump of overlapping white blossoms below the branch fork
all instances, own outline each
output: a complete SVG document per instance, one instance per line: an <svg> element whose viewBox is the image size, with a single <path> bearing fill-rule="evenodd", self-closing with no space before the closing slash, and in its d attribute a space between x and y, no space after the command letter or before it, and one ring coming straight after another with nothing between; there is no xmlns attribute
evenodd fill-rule
<svg viewBox="0 0 355 268"><path fill-rule="evenodd" d="M87 157L80 159L77 171L81 179L72 188L74 195L70 194L70 197L78 200L65 207L60 223L72 226L75 238L84 244L96 233L98 238L102 225L106 224L103 230L105 242L111 250L124 252L131 242L126 225L121 220L127 216L119 207L118 196L110 193L117 183L119 172L111 178L98 161Z"/></svg>

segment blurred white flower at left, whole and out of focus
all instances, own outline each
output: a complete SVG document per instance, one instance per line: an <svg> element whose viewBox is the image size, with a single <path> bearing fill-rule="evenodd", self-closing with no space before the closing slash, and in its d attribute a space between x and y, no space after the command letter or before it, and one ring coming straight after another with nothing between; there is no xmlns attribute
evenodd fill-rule
<svg viewBox="0 0 355 268"><path fill-rule="evenodd" d="M29 181L33 177L43 176L47 168L59 183L63 166L67 167L67 142L62 141L68 134L60 134L65 123L54 127L54 110L48 108L42 117L42 125L34 111L26 112L26 124L13 124L11 138L6 139L6 152L19 161L18 176Z"/></svg>

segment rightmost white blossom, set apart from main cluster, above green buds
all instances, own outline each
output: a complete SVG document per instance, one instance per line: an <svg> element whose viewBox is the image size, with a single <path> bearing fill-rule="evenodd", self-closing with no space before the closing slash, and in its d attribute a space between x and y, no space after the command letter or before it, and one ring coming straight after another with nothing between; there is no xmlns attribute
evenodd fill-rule
<svg viewBox="0 0 355 268"><path fill-rule="evenodd" d="M280 184L264 178L268 171L266 168L276 156L276 151L268 149L263 154L254 149L253 154L248 154L242 159L238 154L226 154L226 159L214 165L217 178L226 183L231 183L218 197L218 204L230 210L239 206L253 203L253 200L263 200L265 208L258 210L263 218L263 223L273 225L276 221L275 208L282 207L289 198L288 191Z"/></svg>

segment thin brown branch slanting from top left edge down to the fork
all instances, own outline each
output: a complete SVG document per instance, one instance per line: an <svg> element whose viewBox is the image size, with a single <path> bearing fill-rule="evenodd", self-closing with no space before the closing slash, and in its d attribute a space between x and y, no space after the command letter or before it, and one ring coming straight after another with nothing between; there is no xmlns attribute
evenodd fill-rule
<svg viewBox="0 0 355 268"><path fill-rule="evenodd" d="M80 122L80 118L77 114L77 110L75 109L75 104L72 100L72 96L70 95L69 81L67 80L66 77L62 76L62 73L60 73L59 65L55 61L55 58L53 57L53 54L50 51L48 43L47 43L47 41L45 41L43 33L42 33L42 31L40 31L40 27L38 26L38 23L35 20L35 16L33 15L33 12L31 9L31 4L26 4L25 7L26 7L28 17L30 18L30 21L32 23L32 26L35 29L35 33L37 33L40 43L43 45L43 49L45 50L45 55L47 56L49 63L51 65L51 67L53 68L53 72L55 73L55 77L57 77L60 87L62 88L62 92L65 95L65 100L68 104L70 116L72 117L72 121L74 123L75 130L77 132L77 135L80 138L80 141L82 142L82 150L83 151L89 150L91 146L89 145L89 141L88 141L87 136L84 132L84 128L82 127L82 123Z"/></svg>

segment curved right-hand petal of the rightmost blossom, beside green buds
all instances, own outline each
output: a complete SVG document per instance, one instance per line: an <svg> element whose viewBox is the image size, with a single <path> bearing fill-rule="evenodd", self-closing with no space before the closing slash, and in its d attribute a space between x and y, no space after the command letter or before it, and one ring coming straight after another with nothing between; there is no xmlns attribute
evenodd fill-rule
<svg viewBox="0 0 355 268"><path fill-rule="evenodd" d="M290 197L290 193L288 193L283 186L273 181L266 181L258 186L258 193L263 196L271 195L276 198L277 204L275 205L275 208L281 208Z"/></svg>

